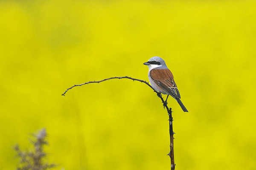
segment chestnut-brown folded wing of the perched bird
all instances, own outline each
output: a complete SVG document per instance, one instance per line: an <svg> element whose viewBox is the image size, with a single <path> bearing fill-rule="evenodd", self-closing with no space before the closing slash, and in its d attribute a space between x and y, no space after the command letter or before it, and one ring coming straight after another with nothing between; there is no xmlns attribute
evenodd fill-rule
<svg viewBox="0 0 256 170"><path fill-rule="evenodd" d="M150 77L163 88L169 95L180 99L180 92L169 69L152 69Z"/></svg>

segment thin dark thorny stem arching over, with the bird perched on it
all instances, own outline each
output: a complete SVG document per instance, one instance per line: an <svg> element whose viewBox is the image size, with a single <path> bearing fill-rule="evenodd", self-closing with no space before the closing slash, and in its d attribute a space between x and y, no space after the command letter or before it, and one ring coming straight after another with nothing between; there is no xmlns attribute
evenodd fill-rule
<svg viewBox="0 0 256 170"><path fill-rule="evenodd" d="M72 87L70 88L67 88L67 90L61 94L62 96L65 96L65 94L67 93L67 91L69 91L71 88L74 88L76 86L82 86L82 85L86 85L86 84L90 84L90 83L100 83L100 82L104 82L106 80L110 80L110 79L132 79L133 81L139 81L139 82L143 82L145 83L146 85L148 85L150 88L152 88L154 90L154 92L157 93L157 96L162 100L162 103L163 103L163 106L164 108L166 108L167 112L168 112L168 115L169 115L169 133L170 133L170 153L168 153L168 155L170 156L171 158L171 170L175 170L175 163L174 163L174 152L173 152L173 128L172 128L172 108L168 108L167 106L167 102L164 101L162 95L160 92L156 91L148 82L144 81L144 80L141 80L141 79L134 79L132 77L128 77L128 76L125 76L125 77L110 77L108 79L103 79L103 80L100 80L100 81L90 81L90 82L85 82L83 84L80 84L80 85L73 85Z"/></svg>

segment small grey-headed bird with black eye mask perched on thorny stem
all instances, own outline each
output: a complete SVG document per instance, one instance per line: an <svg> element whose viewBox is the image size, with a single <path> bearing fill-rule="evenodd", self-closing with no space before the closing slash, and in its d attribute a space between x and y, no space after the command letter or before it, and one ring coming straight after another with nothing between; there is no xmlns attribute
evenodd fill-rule
<svg viewBox="0 0 256 170"><path fill-rule="evenodd" d="M166 103L168 96L172 96L180 105L184 112L189 112L180 100L180 92L178 91L177 85L174 81L172 72L167 67L165 61L160 57L152 57L148 62L144 62L144 65L148 65L148 79L151 86L162 94L167 94Z"/></svg>

